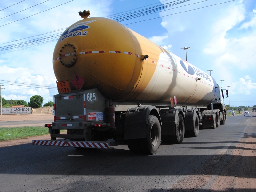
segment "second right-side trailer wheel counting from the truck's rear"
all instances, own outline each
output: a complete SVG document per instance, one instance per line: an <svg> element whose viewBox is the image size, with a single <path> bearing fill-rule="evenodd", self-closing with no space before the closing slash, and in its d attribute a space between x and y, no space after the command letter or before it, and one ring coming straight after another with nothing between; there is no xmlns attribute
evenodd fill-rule
<svg viewBox="0 0 256 192"><path fill-rule="evenodd" d="M184 139L184 134L185 134L185 124L184 124L184 119L181 114L178 114L177 116L177 124L175 127L175 135L172 136L172 143L182 143Z"/></svg>

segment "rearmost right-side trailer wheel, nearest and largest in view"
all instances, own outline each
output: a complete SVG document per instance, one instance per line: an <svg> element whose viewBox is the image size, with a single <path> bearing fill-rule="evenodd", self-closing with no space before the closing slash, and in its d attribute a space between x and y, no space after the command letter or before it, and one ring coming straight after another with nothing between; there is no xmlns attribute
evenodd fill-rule
<svg viewBox="0 0 256 192"><path fill-rule="evenodd" d="M155 154L161 143L161 125L156 116L150 115L147 125L147 137L140 139L141 151L144 154Z"/></svg>

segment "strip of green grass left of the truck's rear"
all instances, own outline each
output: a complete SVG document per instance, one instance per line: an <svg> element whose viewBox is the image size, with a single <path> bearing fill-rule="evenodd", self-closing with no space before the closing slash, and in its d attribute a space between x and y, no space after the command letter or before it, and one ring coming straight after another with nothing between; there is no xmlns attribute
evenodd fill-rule
<svg viewBox="0 0 256 192"><path fill-rule="evenodd" d="M64 130L60 130L60 132ZM0 141L15 139L26 139L28 137L47 135L48 128L45 127L1 127Z"/></svg>

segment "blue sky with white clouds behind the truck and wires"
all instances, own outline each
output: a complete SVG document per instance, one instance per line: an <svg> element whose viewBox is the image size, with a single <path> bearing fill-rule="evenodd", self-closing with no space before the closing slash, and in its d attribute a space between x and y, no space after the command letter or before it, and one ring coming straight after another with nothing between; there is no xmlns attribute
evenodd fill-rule
<svg viewBox="0 0 256 192"><path fill-rule="evenodd" d="M176 5L167 6L170 2ZM226 105L256 105L255 0L3 1L2 97L28 103L31 96L40 95L43 104L53 101L53 95L58 94L53 50L60 34L82 19L79 11L90 10L90 17L114 19L113 16L157 5L163 5L157 12L120 23L184 60L186 52L181 48L190 47L188 62L208 74L207 70L213 70L211 76L216 82L229 89ZM39 38L45 40L40 43ZM29 44L32 40L34 43Z"/></svg>

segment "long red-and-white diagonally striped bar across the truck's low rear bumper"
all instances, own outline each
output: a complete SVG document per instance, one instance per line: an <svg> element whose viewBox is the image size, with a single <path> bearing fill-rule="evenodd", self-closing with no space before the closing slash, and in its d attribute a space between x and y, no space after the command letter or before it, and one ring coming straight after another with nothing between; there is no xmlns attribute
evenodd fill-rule
<svg viewBox="0 0 256 192"><path fill-rule="evenodd" d="M109 142L90 142L90 141L52 141L52 140L32 140L33 145L61 146L61 147L85 147L85 148L108 148Z"/></svg>

